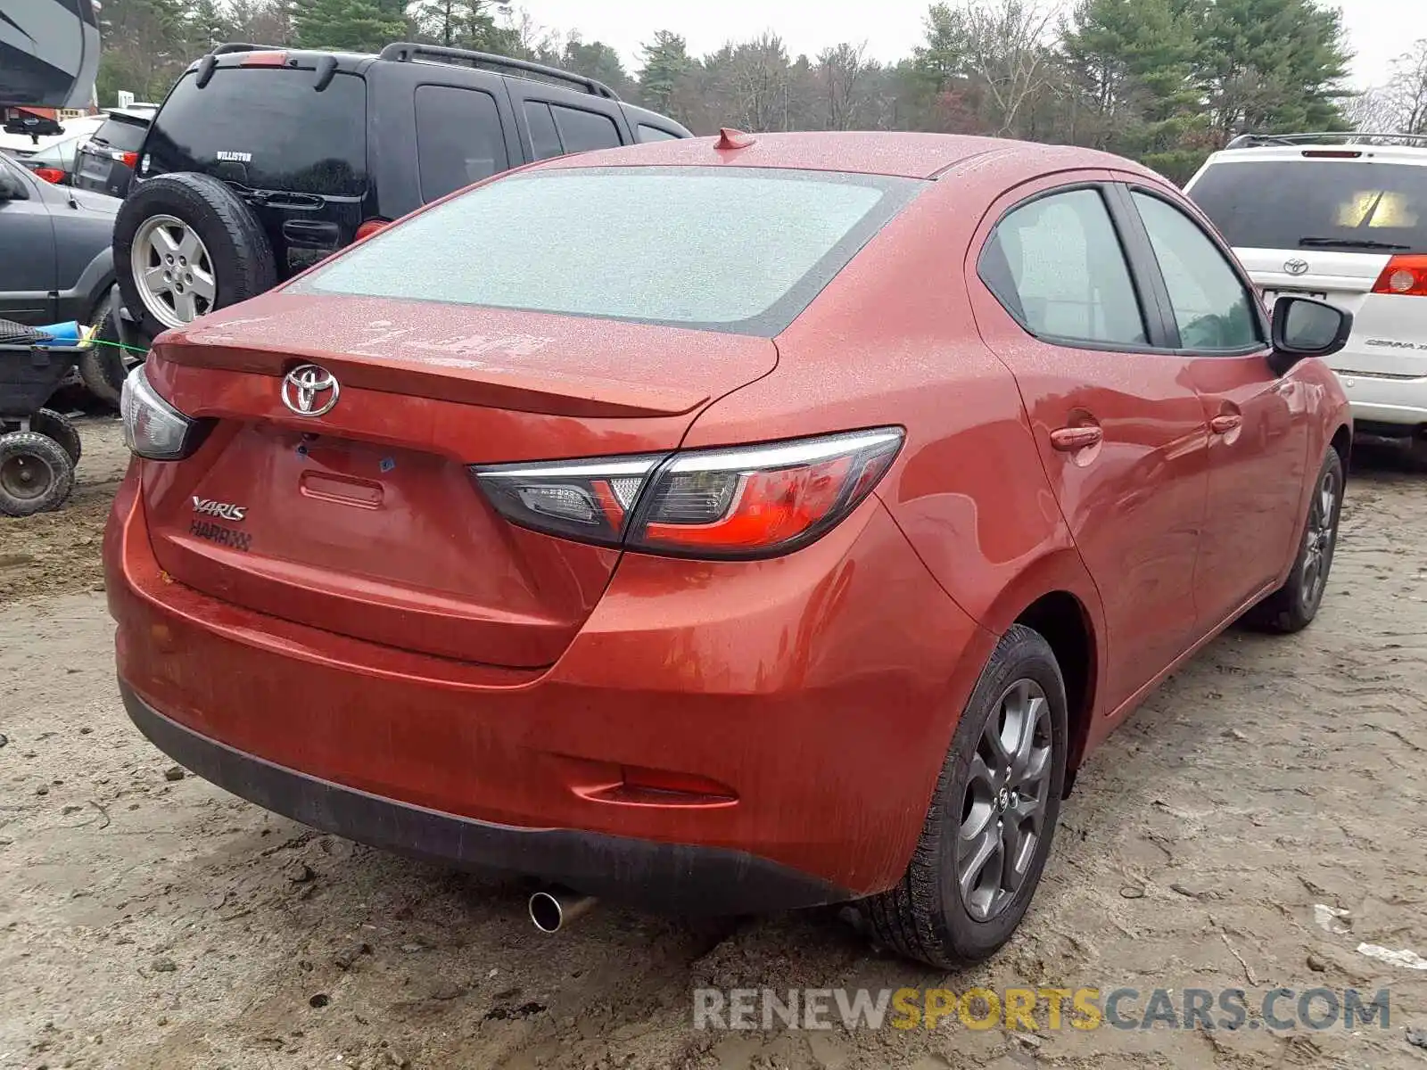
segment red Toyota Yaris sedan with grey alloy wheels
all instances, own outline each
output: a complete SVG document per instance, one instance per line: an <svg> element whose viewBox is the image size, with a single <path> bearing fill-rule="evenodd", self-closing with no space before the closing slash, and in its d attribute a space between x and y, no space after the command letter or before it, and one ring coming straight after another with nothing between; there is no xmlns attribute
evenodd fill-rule
<svg viewBox="0 0 1427 1070"><path fill-rule="evenodd" d="M158 338L124 703L357 840L982 959L1146 692L1313 619L1349 328L1092 151L549 160Z"/></svg>

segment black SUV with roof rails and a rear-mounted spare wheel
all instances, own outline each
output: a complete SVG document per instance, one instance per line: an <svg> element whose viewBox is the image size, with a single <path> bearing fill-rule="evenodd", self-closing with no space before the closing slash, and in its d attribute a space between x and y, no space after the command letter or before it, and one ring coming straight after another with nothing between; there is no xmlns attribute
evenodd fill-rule
<svg viewBox="0 0 1427 1070"><path fill-rule="evenodd" d="M174 83L138 150L114 225L127 327L141 341L254 297L511 167L671 137L691 133L594 78L504 56L223 44Z"/></svg>

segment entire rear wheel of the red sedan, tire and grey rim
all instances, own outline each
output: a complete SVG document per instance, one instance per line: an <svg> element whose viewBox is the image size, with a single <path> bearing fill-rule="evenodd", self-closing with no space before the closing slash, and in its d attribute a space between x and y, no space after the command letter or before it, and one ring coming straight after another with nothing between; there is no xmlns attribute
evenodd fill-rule
<svg viewBox="0 0 1427 1070"><path fill-rule="evenodd" d="M943 969L1006 943L1050 853L1065 763L1060 668L1016 625L966 703L906 875L865 903L878 940Z"/></svg>

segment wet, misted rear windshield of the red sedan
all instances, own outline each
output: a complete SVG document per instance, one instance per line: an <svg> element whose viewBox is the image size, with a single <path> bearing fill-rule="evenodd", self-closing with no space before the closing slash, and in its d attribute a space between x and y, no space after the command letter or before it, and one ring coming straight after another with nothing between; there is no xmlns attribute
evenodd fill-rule
<svg viewBox="0 0 1427 1070"><path fill-rule="evenodd" d="M535 171L382 231L293 290L772 337L923 185L732 167Z"/></svg>

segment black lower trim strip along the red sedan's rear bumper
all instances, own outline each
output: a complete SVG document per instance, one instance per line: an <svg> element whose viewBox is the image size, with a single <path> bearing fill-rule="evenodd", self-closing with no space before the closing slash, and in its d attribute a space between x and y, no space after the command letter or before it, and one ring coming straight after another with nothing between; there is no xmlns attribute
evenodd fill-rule
<svg viewBox="0 0 1427 1070"><path fill-rule="evenodd" d="M759 913L850 899L835 885L738 850L574 829L522 829L358 792L245 755L166 718L120 683L148 740L205 780L323 832L412 857L504 869L688 914Z"/></svg>

